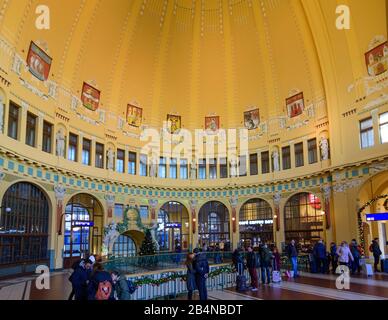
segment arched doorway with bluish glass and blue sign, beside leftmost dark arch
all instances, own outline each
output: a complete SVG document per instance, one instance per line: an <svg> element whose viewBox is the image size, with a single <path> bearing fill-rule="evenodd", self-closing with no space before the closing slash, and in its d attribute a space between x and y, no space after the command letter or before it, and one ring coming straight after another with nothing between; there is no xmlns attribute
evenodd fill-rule
<svg viewBox="0 0 388 320"><path fill-rule="evenodd" d="M102 247L103 209L92 195L73 196L66 205L64 268L89 254L98 254Z"/></svg>

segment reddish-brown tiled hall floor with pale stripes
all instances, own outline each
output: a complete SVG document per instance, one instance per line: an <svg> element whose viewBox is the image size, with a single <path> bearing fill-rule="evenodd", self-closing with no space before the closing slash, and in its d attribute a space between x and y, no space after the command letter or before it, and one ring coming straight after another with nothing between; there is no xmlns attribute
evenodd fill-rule
<svg viewBox="0 0 388 320"><path fill-rule="evenodd" d="M71 286L69 271L51 275L50 289L38 290L33 276L0 281L0 300L66 300ZM235 288L209 291L211 300L381 300L388 299L388 275L353 276L349 290L336 288L336 275L302 273L297 279L260 285L256 292ZM179 300L186 299L184 295ZM195 294L195 300L198 295Z"/></svg>

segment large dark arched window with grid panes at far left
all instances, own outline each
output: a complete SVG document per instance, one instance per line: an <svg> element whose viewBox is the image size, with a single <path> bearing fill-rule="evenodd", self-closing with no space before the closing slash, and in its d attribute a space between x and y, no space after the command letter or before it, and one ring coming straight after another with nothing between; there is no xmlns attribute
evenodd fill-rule
<svg viewBox="0 0 388 320"><path fill-rule="evenodd" d="M19 182L5 193L0 216L0 266L48 260L49 202L35 185Z"/></svg>

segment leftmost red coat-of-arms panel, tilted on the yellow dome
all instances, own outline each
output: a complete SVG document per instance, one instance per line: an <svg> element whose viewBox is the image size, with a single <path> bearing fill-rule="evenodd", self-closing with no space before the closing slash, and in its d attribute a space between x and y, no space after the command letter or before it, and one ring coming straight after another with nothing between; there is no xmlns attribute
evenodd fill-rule
<svg viewBox="0 0 388 320"><path fill-rule="evenodd" d="M46 81L50 73L52 58L31 41L27 55L28 70L39 80Z"/></svg>

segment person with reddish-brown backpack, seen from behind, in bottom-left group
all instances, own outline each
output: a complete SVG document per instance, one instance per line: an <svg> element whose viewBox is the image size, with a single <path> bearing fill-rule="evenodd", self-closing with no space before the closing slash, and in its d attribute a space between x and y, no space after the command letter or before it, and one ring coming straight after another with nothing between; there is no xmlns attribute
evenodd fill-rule
<svg viewBox="0 0 388 320"><path fill-rule="evenodd" d="M94 271L90 277L88 300L115 300L112 277L100 263L94 265Z"/></svg>

